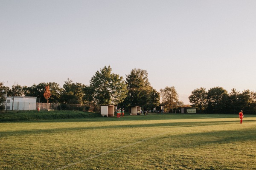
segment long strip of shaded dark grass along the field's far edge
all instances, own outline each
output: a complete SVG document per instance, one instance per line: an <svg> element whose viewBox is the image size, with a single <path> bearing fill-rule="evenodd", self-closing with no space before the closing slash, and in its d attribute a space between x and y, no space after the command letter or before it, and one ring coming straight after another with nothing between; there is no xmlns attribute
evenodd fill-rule
<svg viewBox="0 0 256 170"><path fill-rule="evenodd" d="M256 115L246 115L246 118L256 117ZM108 122L108 121L141 121L141 120L169 120L169 119L226 119L238 118L235 114L177 114L177 113L149 113L148 116L125 115L124 118L102 117L100 113L86 112L40 112L40 113L0 113L0 123L10 122Z"/></svg>

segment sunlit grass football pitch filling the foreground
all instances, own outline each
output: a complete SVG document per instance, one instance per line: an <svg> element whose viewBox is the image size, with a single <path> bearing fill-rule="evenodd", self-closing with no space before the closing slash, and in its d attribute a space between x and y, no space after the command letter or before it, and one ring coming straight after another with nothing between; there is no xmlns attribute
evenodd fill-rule
<svg viewBox="0 0 256 170"><path fill-rule="evenodd" d="M256 115L0 123L1 170L256 170Z"/></svg>

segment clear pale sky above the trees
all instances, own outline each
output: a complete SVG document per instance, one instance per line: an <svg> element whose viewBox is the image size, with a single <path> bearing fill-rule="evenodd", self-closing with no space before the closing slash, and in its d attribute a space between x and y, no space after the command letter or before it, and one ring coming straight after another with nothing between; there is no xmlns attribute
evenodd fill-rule
<svg viewBox="0 0 256 170"><path fill-rule="evenodd" d="M0 0L0 81L90 84L148 71L189 104L196 88L256 91L256 0Z"/></svg>

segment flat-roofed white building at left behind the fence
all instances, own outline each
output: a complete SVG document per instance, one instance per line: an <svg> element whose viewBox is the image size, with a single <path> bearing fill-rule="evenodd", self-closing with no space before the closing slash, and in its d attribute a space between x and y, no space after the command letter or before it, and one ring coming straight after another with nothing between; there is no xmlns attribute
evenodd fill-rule
<svg viewBox="0 0 256 170"><path fill-rule="evenodd" d="M36 97L6 97L7 111L27 111L36 110Z"/></svg>

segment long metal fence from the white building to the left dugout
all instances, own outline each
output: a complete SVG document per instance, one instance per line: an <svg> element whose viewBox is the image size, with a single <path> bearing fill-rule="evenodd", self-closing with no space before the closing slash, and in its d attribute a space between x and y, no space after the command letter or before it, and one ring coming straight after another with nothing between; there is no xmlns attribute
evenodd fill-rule
<svg viewBox="0 0 256 170"><path fill-rule="evenodd" d="M6 102L6 111L87 111L100 112L99 105L65 104L65 103L39 103L39 102Z"/></svg>

